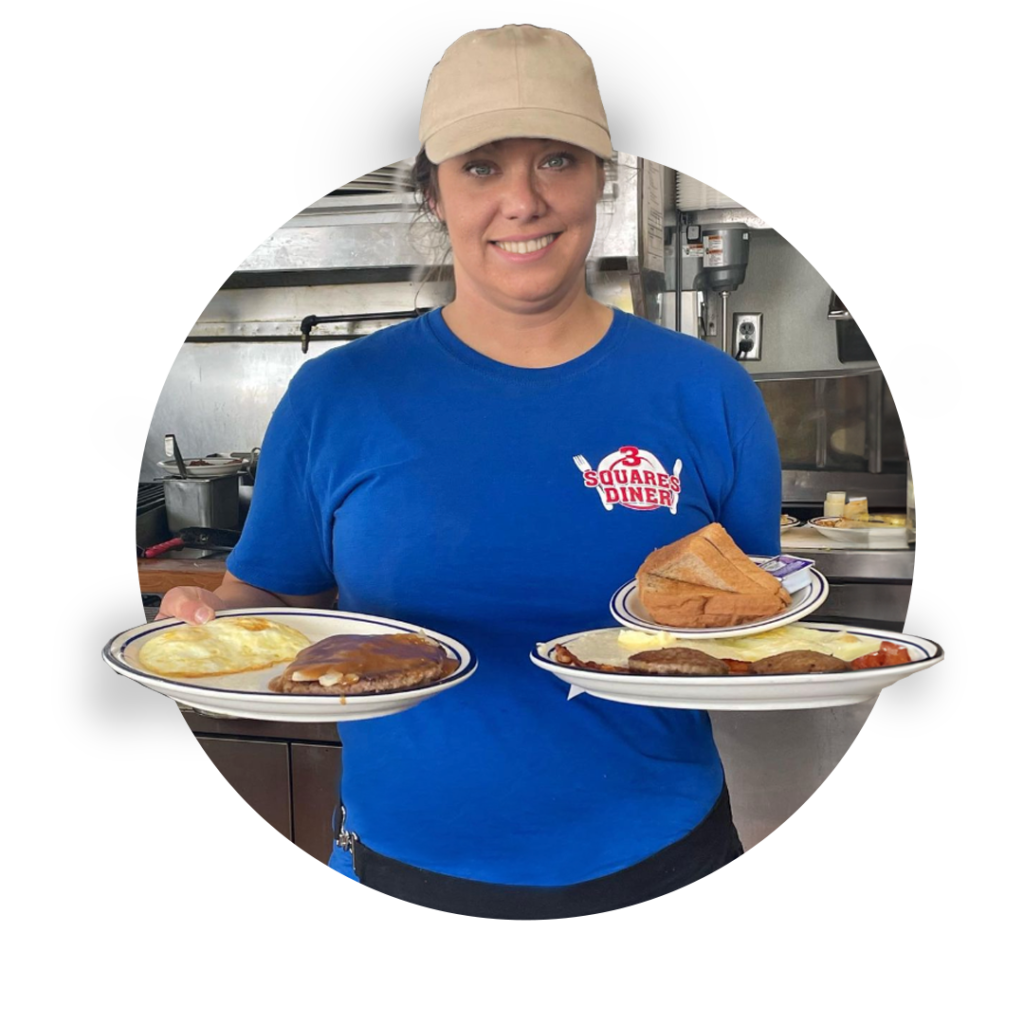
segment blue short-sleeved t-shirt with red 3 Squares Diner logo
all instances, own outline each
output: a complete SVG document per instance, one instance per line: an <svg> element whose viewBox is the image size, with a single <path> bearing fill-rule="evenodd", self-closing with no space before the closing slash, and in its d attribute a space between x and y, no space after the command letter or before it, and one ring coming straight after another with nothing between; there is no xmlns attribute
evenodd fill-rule
<svg viewBox="0 0 1024 1024"><path fill-rule="evenodd" d="M385 856L557 886L680 840L721 793L707 713L567 687L538 641L614 626L612 593L656 547L721 522L779 551L775 433L745 369L614 311L561 366L468 347L439 310L304 365L264 439L227 566L285 594L449 634L469 680L342 723L348 826ZM331 866L354 879L347 855Z"/></svg>

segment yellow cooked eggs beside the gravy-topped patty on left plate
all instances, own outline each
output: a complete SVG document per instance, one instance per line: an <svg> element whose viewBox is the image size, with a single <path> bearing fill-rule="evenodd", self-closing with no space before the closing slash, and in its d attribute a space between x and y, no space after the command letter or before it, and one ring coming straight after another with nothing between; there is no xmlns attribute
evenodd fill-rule
<svg viewBox="0 0 1024 1024"><path fill-rule="evenodd" d="M203 626L169 627L142 644L138 658L157 675L196 679L269 669L308 645L308 637L283 623L224 616Z"/></svg>

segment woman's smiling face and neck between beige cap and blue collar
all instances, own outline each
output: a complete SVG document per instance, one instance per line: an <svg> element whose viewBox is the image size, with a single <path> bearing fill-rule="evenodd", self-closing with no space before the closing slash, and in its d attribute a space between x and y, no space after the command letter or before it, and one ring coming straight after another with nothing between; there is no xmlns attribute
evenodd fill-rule
<svg viewBox="0 0 1024 1024"><path fill-rule="evenodd" d="M445 160L433 208L452 244L449 327L512 366L567 362L597 344L611 310L585 280L603 188L599 159L557 140L500 139Z"/></svg>

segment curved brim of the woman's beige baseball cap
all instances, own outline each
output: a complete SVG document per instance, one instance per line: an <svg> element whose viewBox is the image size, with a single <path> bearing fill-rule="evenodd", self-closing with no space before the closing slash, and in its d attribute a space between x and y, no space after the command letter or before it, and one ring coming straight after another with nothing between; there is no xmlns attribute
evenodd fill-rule
<svg viewBox="0 0 1024 1024"><path fill-rule="evenodd" d="M474 114L435 131L424 143L427 159L440 164L504 138L551 138L607 159L611 136L601 125L561 111L539 108Z"/></svg>

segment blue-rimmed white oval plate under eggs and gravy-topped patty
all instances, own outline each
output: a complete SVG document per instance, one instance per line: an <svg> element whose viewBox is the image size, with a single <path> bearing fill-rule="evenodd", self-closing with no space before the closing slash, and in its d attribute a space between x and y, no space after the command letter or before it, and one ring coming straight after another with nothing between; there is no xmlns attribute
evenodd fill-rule
<svg viewBox="0 0 1024 1024"><path fill-rule="evenodd" d="M232 611L221 611L217 617L237 615L260 615L276 620L298 630L312 643L338 633L422 632L436 640L445 649L449 657L457 660L459 666L451 675L430 686L350 697L321 696L317 693L271 693L268 684L271 679L281 675L285 669L284 665L259 672L206 676L201 680L158 676L143 669L138 659L142 644L164 630L182 625L180 618L162 618L119 633L103 647L103 660L122 676L190 708L261 722L352 722L394 715L418 705L421 700L426 700L427 697L465 682L476 671L476 656L458 640L393 618L362 615L354 611L280 607L238 608Z"/></svg>

